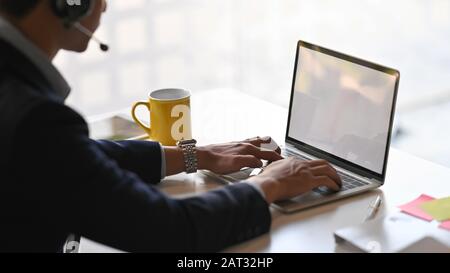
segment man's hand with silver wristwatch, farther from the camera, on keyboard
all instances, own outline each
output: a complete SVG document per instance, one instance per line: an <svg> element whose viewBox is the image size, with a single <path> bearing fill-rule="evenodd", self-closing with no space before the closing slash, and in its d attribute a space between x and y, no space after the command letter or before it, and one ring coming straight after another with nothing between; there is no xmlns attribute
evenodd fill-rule
<svg viewBox="0 0 450 273"><path fill-rule="evenodd" d="M262 159L283 159L280 151L270 137L198 147L198 168L218 174L237 172L244 167L259 168Z"/></svg>

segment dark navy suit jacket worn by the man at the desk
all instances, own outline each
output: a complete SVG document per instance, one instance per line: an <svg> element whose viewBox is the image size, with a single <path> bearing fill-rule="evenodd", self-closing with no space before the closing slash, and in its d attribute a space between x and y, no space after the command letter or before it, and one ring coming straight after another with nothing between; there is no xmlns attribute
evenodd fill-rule
<svg viewBox="0 0 450 273"><path fill-rule="evenodd" d="M60 251L69 233L126 251L218 251L269 230L247 184L161 193L157 143L90 139L25 56L1 40L0 56L0 251Z"/></svg>

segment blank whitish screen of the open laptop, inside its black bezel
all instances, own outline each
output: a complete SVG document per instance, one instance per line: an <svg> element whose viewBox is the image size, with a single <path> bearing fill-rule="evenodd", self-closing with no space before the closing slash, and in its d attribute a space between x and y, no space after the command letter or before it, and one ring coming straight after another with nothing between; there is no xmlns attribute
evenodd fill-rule
<svg viewBox="0 0 450 273"><path fill-rule="evenodd" d="M383 172L396 77L299 47L288 136Z"/></svg>

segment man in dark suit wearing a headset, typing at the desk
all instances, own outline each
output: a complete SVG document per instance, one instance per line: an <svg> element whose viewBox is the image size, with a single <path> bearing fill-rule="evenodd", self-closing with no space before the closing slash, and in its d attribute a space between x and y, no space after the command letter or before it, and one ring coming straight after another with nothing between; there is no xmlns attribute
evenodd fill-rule
<svg viewBox="0 0 450 273"><path fill-rule="evenodd" d="M84 51L89 38L73 24L95 31L106 9L82 0L92 2L82 17L62 14L72 2L0 0L0 251L61 251L69 233L126 251L218 251L267 232L271 202L339 189L326 162L282 159L255 138L197 147L196 167L275 161L261 175L187 199L161 193L154 184L186 170L182 148L94 141L64 105L70 88L51 61Z"/></svg>

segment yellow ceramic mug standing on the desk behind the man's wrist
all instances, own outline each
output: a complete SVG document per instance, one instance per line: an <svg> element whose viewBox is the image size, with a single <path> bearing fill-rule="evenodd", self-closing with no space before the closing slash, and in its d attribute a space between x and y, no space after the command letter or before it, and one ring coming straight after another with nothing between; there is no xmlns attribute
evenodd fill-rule
<svg viewBox="0 0 450 273"><path fill-rule="evenodd" d="M183 89L156 90L149 94L148 101L135 103L131 115L150 139L175 146L178 140L192 138L190 97ZM136 117L136 108L141 105L150 111L149 127Z"/></svg>

